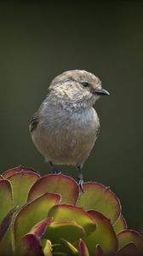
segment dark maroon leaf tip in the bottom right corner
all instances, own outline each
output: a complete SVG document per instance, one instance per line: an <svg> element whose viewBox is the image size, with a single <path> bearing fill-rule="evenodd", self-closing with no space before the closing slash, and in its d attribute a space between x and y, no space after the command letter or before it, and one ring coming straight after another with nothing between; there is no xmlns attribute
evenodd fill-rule
<svg viewBox="0 0 143 256"><path fill-rule="evenodd" d="M125 245L122 249L120 249L116 256L142 256L140 254L138 248L134 245L133 242Z"/></svg>

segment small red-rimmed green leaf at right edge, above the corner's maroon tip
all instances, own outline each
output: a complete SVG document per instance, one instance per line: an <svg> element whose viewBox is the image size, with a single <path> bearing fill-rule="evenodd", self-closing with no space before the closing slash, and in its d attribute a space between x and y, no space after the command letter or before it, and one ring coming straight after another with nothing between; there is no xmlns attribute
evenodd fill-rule
<svg viewBox="0 0 143 256"><path fill-rule="evenodd" d="M119 249L123 248L129 243L134 243L134 245L138 248L141 255L143 255L143 237L134 230L123 230L122 232L117 234Z"/></svg>

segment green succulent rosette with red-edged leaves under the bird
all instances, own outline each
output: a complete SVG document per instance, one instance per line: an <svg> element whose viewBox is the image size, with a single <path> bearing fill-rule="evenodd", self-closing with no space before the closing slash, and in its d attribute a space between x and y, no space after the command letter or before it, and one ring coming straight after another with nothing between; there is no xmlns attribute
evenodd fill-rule
<svg viewBox="0 0 143 256"><path fill-rule="evenodd" d="M0 176L0 255L141 256L143 237L110 188L19 166Z"/></svg>

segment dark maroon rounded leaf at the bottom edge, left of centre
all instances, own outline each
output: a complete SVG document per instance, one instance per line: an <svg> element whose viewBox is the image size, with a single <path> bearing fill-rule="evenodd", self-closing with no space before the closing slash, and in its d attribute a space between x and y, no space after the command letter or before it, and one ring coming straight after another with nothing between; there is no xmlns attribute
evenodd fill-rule
<svg viewBox="0 0 143 256"><path fill-rule="evenodd" d="M44 256L43 247L40 240L34 234L23 236L15 250L18 256Z"/></svg>

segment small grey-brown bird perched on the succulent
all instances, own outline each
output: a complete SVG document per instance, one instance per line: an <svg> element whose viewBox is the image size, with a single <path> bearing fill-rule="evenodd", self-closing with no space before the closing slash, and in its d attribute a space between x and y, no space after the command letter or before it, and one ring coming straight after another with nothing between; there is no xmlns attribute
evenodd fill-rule
<svg viewBox="0 0 143 256"><path fill-rule="evenodd" d="M83 163L89 157L100 130L93 106L99 96L109 95L100 79L84 70L61 73L49 85L49 94L31 119L31 139L49 162L76 166L77 183L83 189Z"/></svg>

